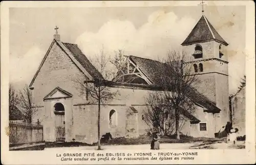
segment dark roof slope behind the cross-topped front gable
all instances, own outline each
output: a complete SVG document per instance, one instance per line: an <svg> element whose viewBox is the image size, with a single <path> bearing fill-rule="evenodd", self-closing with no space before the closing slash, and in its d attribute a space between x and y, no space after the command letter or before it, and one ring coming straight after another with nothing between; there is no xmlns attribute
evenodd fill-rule
<svg viewBox="0 0 256 165"><path fill-rule="evenodd" d="M63 43L63 42L62 42ZM76 60L89 72L89 74L95 79L104 79L96 67L89 61L89 59L78 48L77 44L63 43L69 51L73 54Z"/></svg>

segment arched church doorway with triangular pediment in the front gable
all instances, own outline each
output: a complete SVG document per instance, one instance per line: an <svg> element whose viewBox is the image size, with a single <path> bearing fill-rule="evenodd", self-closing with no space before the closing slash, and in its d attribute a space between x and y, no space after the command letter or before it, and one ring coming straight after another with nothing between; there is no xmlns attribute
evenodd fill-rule
<svg viewBox="0 0 256 165"><path fill-rule="evenodd" d="M73 96L56 87L45 98L44 140L71 142L73 130Z"/></svg>

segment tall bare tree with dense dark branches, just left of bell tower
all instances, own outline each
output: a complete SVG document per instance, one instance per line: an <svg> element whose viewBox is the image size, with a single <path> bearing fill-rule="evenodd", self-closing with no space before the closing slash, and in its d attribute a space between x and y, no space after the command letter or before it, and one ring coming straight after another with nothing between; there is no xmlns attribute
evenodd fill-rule
<svg viewBox="0 0 256 165"><path fill-rule="evenodd" d="M191 100L187 96L193 90L193 86L199 83L198 77L191 74L192 66L188 61L191 60L184 52L170 51L163 67L160 68L161 76L158 82L163 89L165 99L174 109L177 139L180 139L180 111L192 112L194 110L194 106L189 105Z"/></svg>

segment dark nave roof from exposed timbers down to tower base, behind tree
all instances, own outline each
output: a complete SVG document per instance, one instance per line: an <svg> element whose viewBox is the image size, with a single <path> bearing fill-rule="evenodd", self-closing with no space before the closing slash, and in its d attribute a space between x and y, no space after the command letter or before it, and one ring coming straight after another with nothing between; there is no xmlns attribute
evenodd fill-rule
<svg viewBox="0 0 256 165"><path fill-rule="evenodd" d="M145 75L152 80L153 85L160 85L161 73L163 72L163 67L166 70L166 74L170 72L170 69L167 69L168 65L160 61L141 58L136 56L129 56L137 66L142 70ZM219 112L219 109L215 103L211 102L207 97L202 93L198 92L195 88L190 87L190 90L187 92L187 97L193 100L198 105L206 108L211 112Z"/></svg>

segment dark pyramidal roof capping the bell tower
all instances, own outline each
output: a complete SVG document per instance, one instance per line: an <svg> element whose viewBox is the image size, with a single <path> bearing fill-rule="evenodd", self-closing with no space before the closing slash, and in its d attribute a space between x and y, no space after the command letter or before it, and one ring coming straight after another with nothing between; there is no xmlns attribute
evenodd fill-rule
<svg viewBox="0 0 256 165"><path fill-rule="evenodd" d="M220 36L217 30L211 25L208 19L202 15L197 22L197 25L193 28L187 38L181 43L181 45L187 45L202 41L216 40L224 45L228 43Z"/></svg>

